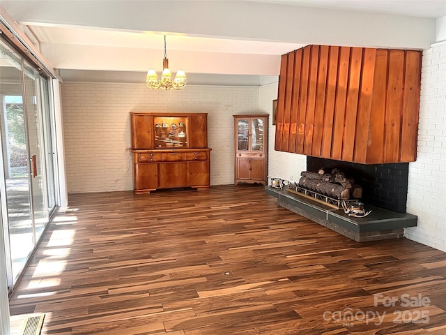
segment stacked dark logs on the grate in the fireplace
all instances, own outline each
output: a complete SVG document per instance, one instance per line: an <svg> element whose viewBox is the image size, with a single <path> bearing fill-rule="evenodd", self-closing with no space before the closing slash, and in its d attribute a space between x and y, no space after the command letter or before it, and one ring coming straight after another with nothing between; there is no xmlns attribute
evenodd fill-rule
<svg viewBox="0 0 446 335"><path fill-rule="evenodd" d="M321 168L318 172L300 172L299 186L309 191L314 191L328 197L348 200L362 197L362 187L355 184L355 180L341 172L333 169L327 172Z"/></svg>

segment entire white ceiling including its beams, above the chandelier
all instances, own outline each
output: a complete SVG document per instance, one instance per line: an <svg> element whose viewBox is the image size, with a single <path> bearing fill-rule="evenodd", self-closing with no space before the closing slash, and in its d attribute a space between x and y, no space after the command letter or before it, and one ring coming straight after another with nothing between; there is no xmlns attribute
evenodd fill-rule
<svg viewBox="0 0 446 335"><path fill-rule="evenodd" d="M190 84L265 84L280 56L308 44L423 49L443 0L17 1L1 6L64 81L144 82L162 70ZM408 38L410 36L410 38Z"/></svg>

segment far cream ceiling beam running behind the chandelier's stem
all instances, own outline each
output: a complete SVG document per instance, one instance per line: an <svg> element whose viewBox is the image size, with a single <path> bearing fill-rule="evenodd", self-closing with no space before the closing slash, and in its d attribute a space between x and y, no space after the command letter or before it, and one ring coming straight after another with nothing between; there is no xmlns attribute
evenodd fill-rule
<svg viewBox="0 0 446 335"><path fill-rule="evenodd" d="M162 71L161 50L98 45L40 43L45 59L54 68L77 70ZM168 52L172 73L220 73L238 75L279 75L280 56L270 54L228 54L171 50Z"/></svg>

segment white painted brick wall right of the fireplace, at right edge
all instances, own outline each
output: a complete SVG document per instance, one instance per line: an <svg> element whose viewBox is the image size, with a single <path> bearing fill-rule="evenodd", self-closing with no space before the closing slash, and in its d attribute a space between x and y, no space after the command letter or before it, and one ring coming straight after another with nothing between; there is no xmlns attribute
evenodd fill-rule
<svg viewBox="0 0 446 335"><path fill-rule="evenodd" d="M417 161L409 164L405 237L446 251L446 43L424 50Z"/></svg>

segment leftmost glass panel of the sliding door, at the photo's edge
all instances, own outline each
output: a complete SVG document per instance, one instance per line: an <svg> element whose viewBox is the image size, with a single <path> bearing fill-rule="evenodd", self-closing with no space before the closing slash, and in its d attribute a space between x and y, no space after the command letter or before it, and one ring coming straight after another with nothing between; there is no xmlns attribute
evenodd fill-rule
<svg viewBox="0 0 446 335"><path fill-rule="evenodd" d="M7 265L12 287L33 250L33 219L29 183L28 149L22 59L8 45L1 44L1 149L4 186L0 193L3 204L3 229L6 239ZM6 208L4 206L6 205ZM6 215L5 215L6 214ZM5 223L7 223L5 225Z"/></svg>

